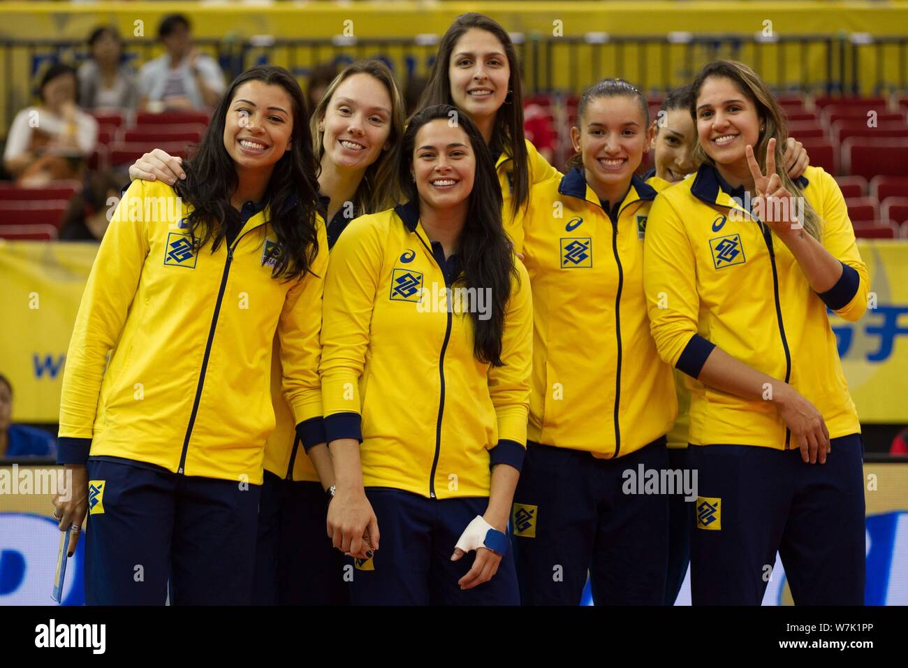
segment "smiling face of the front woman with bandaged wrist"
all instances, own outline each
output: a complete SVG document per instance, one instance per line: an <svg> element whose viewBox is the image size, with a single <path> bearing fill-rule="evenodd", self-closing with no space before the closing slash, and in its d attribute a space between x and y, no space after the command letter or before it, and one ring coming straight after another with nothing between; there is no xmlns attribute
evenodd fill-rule
<svg viewBox="0 0 908 668"><path fill-rule="evenodd" d="M419 128L413 149L413 178L421 204L450 209L469 203L476 155L467 133L437 118Z"/></svg>

